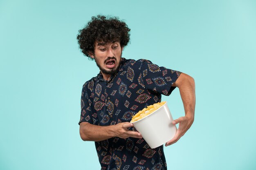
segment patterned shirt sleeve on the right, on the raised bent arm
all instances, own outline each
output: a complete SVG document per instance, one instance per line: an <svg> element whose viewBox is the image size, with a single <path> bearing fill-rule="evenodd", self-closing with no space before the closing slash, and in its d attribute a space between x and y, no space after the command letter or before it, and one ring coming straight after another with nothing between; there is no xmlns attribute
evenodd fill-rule
<svg viewBox="0 0 256 170"><path fill-rule="evenodd" d="M180 71L159 67L149 60L141 62L141 77L146 89L163 95L170 95L176 88L172 86L180 76Z"/></svg>

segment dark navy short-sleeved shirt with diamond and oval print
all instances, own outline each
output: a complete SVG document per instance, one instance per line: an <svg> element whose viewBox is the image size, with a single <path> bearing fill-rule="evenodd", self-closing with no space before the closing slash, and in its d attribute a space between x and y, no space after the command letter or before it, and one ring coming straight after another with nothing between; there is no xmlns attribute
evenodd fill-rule
<svg viewBox="0 0 256 170"><path fill-rule="evenodd" d="M99 126L131 121L132 115L170 95L180 72L149 60L122 58L109 81L101 73L83 85L81 122ZM135 128L130 128L134 130ZM163 145L151 149L144 139L113 137L95 142L101 170L166 170Z"/></svg>

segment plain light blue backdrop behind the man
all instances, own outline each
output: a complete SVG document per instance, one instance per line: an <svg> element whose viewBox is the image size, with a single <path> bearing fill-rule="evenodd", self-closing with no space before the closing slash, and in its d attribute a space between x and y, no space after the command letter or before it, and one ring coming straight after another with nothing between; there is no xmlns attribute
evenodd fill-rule
<svg viewBox="0 0 256 170"><path fill-rule="evenodd" d="M97 14L130 27L124 57L195 79L195 121L164 148L169 170L256 169L256 1L1 0L1 170L100 169L77 124L83 83L99 69L76 35ZM164 100L184 115L178 89Z"/></svg>

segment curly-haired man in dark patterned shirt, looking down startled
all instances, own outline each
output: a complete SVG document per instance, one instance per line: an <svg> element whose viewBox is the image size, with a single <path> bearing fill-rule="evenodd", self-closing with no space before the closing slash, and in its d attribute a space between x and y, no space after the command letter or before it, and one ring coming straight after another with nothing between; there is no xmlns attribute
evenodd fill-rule
<svg viewBox="0 0 256 170"><path fill-rule="evenodd" d="M95 141L101 170L166 170L163 146L151 149L129 122L178 87L185 116L172 122L179 128L165 146L174 144L193 123L195 83L189 75L149 60L122 58L129 31L125 22L98 15L77 35L83 54L100 70L83 85L80 135L84 141Z"/></svg>

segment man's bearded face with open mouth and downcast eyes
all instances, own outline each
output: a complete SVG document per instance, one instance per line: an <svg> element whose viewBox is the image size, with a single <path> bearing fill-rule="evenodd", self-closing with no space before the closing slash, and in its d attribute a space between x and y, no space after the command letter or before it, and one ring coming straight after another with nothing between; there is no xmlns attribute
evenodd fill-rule
<svg viewBox="0 0 256 170"><path fill-rule="evenodd" d="M110 42L104 44L102 42L95 42L94 54L90 57L94 58L101 73L104 75L115 74L121 64L122 50L119 42Z"/></svg>

